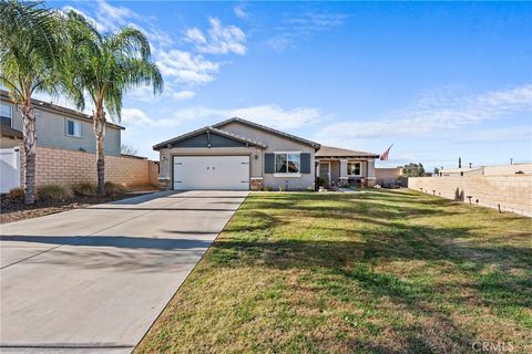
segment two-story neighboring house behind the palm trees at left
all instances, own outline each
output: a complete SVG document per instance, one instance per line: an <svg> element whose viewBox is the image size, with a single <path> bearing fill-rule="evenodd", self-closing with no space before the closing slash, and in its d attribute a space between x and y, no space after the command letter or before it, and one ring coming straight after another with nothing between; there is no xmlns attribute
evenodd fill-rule
<svg viewBox="0 0 532 354"><path fill-rule="evenodd" d="M37 146L94 153L96 142L91 116L52 103L32 100L35 113ZM1 148L21 146L22 115L11 103L8 92L0 91ZM108 123L104 150L120 156L124 127Z"/></svg>

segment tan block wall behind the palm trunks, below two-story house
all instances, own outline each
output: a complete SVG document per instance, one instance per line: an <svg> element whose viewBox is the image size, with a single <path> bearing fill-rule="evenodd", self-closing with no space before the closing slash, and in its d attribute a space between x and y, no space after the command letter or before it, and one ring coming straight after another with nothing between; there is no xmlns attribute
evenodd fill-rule
<svg viewBox="0 0 532 354"><path fill-rule="evenodd" d="M105 180L124 185L157 185L158 163L122 156L105 156ZM96 156L90 153L37 148L37 185L72 185L96 181Z"/></svg>

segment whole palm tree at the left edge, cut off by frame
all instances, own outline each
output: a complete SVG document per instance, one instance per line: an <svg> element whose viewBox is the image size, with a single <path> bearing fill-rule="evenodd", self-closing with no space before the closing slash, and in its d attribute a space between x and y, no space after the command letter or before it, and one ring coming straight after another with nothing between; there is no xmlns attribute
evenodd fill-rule
<svg viewBox="0 0 532 354"><path fill-rule="evenodd" d="M24 202L35 201L35 116L31 96L52 93L60 63L59 18L42 2L0 1L0 84L22 114Z"/></svg>

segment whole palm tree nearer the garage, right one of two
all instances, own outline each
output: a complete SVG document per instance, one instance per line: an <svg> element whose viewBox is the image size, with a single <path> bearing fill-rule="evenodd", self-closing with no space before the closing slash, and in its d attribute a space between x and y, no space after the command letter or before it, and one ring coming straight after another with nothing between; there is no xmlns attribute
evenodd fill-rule
<svg viewBox="0 0 532 354"><path fill-rule="evenodd" d="M158 67L151 61L146 37L133 27L116 33L100 34L94 25L74 11L65 17L69 33L68 60L63 66L64 84L79 108L86 94L94 106L93 128L96 138L98 194L105 194L104 137L106 114L120 122L124 93L136 86L163 91Z"/></svg>

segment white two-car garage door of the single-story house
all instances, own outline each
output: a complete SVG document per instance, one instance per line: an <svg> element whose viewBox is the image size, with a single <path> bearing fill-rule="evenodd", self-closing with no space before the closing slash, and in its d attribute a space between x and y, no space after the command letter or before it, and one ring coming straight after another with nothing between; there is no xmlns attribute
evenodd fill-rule
<svg viewBox="0 0 532 354"><path fill-rule="evenodd" d="M174 156L174 189L249 189L249 156Z"/></svg>

